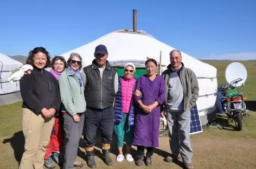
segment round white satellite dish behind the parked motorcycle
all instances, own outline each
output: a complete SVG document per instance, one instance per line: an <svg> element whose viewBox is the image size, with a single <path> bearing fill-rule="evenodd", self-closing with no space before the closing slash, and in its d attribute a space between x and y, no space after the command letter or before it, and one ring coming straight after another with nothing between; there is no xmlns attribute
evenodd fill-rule
<svg viewBox="0 0 256 169"><path fill-rule="evenodd" d="M232 81L234 82L237 79L241 79L238 83L235 83L233 86L242 86L247 79L247 70L244 64L239 62L233 62L229 64L225 70L225 78L229 85L231 85Z"/></svg>

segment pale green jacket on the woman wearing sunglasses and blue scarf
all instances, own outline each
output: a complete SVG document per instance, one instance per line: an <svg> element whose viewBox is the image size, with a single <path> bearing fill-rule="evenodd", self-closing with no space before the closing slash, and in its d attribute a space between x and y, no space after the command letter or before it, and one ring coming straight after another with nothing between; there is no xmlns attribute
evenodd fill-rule
<svg viewBox="0 0 256 169"><path fill-rule="evenodd" d="M80 87L78 79L66 70L60 75L59 85L62 102L61 112L68 112L71 115L84 113L86 109L84 85Z"/></svg>

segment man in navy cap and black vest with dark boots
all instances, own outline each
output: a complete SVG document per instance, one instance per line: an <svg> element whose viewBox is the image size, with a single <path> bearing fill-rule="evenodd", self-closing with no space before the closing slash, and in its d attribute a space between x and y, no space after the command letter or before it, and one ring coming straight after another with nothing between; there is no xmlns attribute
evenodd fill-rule
<svg viewBox="0 0 256 169"><path fill-rule="evenodd" d="M116 68L107 61L107 48L100 44L95 48L95 59L82 71L82 81L85 86L85 151L87 165L94 168L94 145L97 128L101 129L104 161L112 165L109 156L110 144L114 128L114 97L118 90L118 75Z"/></svg>

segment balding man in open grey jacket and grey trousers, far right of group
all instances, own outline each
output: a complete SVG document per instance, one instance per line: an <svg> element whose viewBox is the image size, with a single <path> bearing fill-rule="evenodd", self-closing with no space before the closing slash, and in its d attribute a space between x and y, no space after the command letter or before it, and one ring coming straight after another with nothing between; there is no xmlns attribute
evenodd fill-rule
<svg viewBox="0 0 256 169"><path fill-rule="evenodd" d="M195 106L199 95L199 85L193 70L185 68L181 62L181 52L172 50L167 70L162 76L165 80L165 101L162 105L163 112L167 116L169 129L171 156L165 161L178 160L181 154L185 168L193 169L191 159L193 150L190 144L190 109Z"/></svg>

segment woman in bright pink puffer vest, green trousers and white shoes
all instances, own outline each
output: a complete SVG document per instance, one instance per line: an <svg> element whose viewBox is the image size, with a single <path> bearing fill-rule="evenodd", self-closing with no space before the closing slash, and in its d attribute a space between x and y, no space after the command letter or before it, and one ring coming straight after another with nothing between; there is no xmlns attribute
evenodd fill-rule
<svg viewBox="0 0 256 169"><path fill-rule="evenodd" d="M123 155L123 140L124 134L126 138L126 153L125 159L127 161L133 161L130 154L132 138L133 138L133 125L134 125L134 102L133 94L137 94L135 91L136 79L133 77L135 73L135 65L133 63L127 63L124 67L124 76L120 76L118 80L118 92L116 94L116 100L114 101L114 132L117 134L117 147L118 155L117 161L124 160ZM140 94L140 92L138 92ZM138 94L138 96L139 96Z"/></svg>

